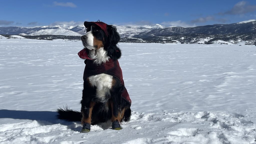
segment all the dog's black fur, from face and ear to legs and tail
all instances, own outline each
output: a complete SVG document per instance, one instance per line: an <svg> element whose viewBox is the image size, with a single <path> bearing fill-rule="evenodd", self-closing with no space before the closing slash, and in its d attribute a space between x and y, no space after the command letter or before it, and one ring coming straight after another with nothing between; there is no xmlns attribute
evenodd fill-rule
<svg viewBox="0 0 256 144"><path fill-rule="evenodd" d="M91 30L91 27L87 27L87 32ZM116 30L115 26L107 25L107 30L109 37L106 37L103 30L100 29L98 26L93 27L93 35L97 37L97 39L102 40L104 43L104 49L107 51L108 56L113 59L117 60L121 57L121 50L117 46L118 42L120 41L120 36ZM91 102L95 102L95 105L92 110L92 120L91 124L95 125L101 122L107 122L112 118L112 110L111 104L113 105L113 115L118 116L118 112L121 112L124 108L126 109L124 112L124 117L121 121L129 121L131 117L131 109L130 104L126 100L121 97L121 94L124 90L124 86L120 83L117 78L113 78L116 81L115 85L110 90L111 96L109 99L108 108L106 110L106 104L97 101L96 98L96 87L92 87L88 81L84 81L83 85L83 94L81 100L81 112L72 111L69 108L64 109L57 109L58 115L57 118L65 119L68 121L81 121L82 113L85 118L89 116L89 110ZM107 96L108 97L108 96Z"/></svg>

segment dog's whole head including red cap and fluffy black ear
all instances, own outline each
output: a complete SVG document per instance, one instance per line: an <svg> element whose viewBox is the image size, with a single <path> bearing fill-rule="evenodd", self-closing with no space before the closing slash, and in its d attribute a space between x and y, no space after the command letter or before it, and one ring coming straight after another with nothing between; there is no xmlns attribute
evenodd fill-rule
<svg viewBox="0 0 256 144"><path fill-rule="evenodd" d="M83 46L89 51L90 58L96 61L98 59L99 63L104 57L113 60L121 57L121 50L117 46L120 36L115 26L103 22L84 22L84 26L86 34L81 39Z"/></svg>

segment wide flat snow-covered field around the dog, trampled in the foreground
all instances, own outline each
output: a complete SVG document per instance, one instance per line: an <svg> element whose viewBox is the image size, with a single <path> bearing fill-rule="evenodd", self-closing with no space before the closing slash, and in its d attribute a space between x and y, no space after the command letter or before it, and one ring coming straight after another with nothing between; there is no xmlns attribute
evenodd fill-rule
<svg viewBox="0 0 256 144"><path fill-rule="evenodd" d="M0 39L0 144L256 143L255 46L119 46L131 120L80 133L55 110L80 110L81 41Z"/></svg>

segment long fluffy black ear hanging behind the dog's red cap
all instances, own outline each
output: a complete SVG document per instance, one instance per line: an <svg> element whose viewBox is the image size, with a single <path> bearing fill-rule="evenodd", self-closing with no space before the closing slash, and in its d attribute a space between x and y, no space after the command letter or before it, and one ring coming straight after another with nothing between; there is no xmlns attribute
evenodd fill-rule
<svg viewBox="0 0 256 144"><path fill-rule="evenodd" d="M108 52L108 56L111 59L117 60L121 57L121 50L117 46L120 41L120 36L115 26L108 25L107 27L109 36L106 44L104 45L104 49Z"/></svg>

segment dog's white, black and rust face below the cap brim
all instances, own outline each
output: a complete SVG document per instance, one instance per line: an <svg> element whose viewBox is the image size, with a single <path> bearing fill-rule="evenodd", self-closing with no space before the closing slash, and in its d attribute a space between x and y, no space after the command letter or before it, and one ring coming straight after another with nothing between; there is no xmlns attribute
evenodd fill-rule
<svg viewBox="0 0 256 144"><path fill-rule="evenodd" d="M97 50L104 47L106 36L97 25L87 27L86 34L81 37L83 46L89 50Z"/></svg>

